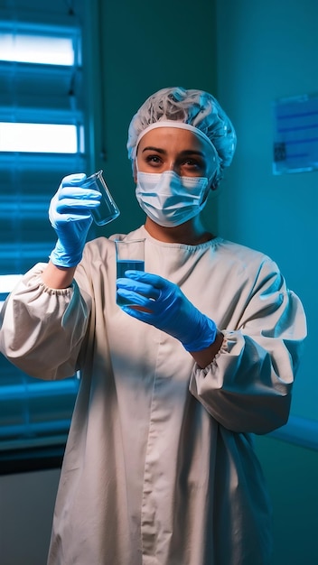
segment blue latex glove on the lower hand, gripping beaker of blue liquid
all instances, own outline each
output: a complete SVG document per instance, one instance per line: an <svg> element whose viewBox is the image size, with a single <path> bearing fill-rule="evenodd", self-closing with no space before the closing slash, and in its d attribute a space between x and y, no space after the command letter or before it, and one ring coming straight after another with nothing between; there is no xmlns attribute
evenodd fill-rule
<svg viewBox="0 0 318 565"><path fill-rule="evenodd" d="M179 339L187 351L201 351L214 342L217 334L214 321L195 308L179 286L156 274L141 271L125 274L126 278L117 279L117 293L147 310L121 306L127 314Z"/></svg>

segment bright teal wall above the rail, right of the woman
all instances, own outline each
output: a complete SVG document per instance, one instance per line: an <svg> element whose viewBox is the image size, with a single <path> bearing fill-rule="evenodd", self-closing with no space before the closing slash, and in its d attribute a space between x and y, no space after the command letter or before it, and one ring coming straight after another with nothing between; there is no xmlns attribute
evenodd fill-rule
<svg viewBox="0 0 318 565"><path fill-rule="evenodd" d="M304 302L309 337L292 412L318 420L318 171L272 173L273 101L318 95L318 3L217 5L218 94L238 134L220 195L220 233L271 255Z"/></svg>

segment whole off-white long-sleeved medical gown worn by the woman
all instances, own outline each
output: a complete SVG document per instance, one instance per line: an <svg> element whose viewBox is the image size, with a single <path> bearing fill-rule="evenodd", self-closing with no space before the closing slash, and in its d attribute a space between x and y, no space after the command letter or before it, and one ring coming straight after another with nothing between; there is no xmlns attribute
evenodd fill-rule
<svg viewBox="0 0 318 565"><path fill-rule="evenodd" d="M24 275L1 350L43 379L81 372L48 562L267 565L270 510L250 434L288 418L302 305L276 264L242 245L168 244L145 227L120 237L145 237L145 270L177 283L224 341L201 369L120 310L115 236L86 245L66 290L42 283L43 264Z"/></svg>

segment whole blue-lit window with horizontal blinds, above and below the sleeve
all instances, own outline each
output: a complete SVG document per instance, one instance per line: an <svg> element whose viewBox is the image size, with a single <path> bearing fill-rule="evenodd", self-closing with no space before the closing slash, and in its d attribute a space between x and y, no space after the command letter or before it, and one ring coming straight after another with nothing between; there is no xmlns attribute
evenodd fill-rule
<svg viewBox="0 0 318 565"><path fill-rule="evenodd" d="M39 0L27 14L17 4L0 18L0 306L21 273L48 260L61 178L87 171L82 2L47 14ZM34 379L0 354L0 453L63 445L78 385L77 375Z"/></svg>

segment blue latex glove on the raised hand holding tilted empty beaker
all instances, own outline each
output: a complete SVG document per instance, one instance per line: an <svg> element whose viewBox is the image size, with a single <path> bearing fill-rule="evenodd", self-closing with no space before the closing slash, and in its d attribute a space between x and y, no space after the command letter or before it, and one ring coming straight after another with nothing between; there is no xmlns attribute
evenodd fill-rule
<svg viewBox="0 0 318 565"><path fill-rule="evenodd" d="M49 218L58 241L51 252L51 262L60 267L74 267L83 254L92 223L91 209L99 206L98 190L82 189L86 174L70 174L61 181L51 199Z"/></svg>

